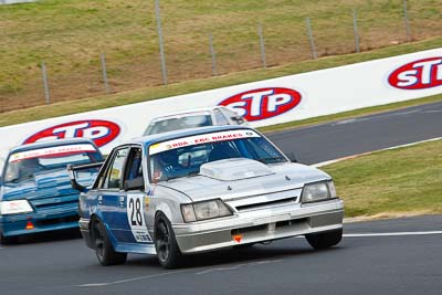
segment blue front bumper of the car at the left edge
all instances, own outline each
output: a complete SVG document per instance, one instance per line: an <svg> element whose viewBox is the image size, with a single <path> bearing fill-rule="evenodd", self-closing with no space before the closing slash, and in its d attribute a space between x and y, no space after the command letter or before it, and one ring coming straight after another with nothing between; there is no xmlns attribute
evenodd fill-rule
<svg viewBox="0 0 442 295"><path fill-rule="evenodd" d="M27 229L31 222L33 228ZM27 213L0 215L0 232L3 236L24 235L46 231L78 228L76 210L63 210L51 213Z"/></svg>

